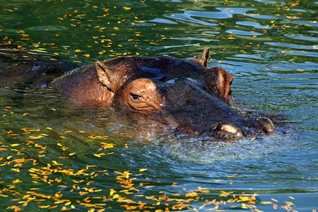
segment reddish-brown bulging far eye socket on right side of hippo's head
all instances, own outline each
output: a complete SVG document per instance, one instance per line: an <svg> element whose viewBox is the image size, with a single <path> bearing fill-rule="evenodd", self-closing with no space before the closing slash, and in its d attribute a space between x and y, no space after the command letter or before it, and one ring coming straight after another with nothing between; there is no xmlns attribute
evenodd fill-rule
<svg viewBox="0 0 318 212"><path fill-rule="evenodd" d="M209 93L215 94L220 98L225 100L230 99L231 95L231 83L233 81L233 76L220 67L214 67L209 69L204 74L204 83L208 88Z"/></svg>

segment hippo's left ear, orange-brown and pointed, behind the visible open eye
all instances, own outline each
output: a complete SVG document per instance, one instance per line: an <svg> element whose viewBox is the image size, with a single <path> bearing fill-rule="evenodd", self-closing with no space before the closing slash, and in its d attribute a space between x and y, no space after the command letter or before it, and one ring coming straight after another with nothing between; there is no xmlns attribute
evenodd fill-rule
<svg viewBox="0 0 318 212"><path fill-rule="evenodd" d="M114 73L110 69L107 69L107 66L101 61L96 61L95 68L100 82L114 93L115 83L112 81Z"/></svg>

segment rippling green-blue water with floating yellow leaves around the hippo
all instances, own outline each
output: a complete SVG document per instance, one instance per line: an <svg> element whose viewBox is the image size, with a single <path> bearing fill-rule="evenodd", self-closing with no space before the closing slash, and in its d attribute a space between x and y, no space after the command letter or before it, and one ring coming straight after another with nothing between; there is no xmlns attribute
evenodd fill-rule
<svg viewBox="0 0 318 212"><path fill-rule="evenodd" d="M210 66L235 76L237 104L293 121L226 143L112 107L78 108L54 90L3 85L1 210L317 210L317 4L0 1L1 45L78 66L193 58L209 46Z"/></svg>

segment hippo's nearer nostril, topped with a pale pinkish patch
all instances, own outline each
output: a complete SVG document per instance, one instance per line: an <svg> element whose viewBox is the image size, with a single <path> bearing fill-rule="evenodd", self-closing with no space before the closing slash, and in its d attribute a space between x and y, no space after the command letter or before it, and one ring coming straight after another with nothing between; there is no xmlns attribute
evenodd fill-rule
<svg viewBox="0 0 318 212"><path fill-rule="evenodd" d="M234 141L242 139L243 133L236 126L220 124L216 128L214 135L219 139Z"/></svg>

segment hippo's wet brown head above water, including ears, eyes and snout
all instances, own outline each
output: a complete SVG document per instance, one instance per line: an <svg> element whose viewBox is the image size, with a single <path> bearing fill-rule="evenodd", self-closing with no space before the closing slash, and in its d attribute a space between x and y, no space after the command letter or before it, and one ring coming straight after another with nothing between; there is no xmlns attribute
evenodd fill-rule
<svg viewBox="0 0 318 212"><path fill-rule="evenodd" d="M184 134L238 140L273 131L270 119L246 117L229 104L233 77L209 69L208 48L196 59L119 57L75 69L50 86L76 102L153 114Z"/></svg>

